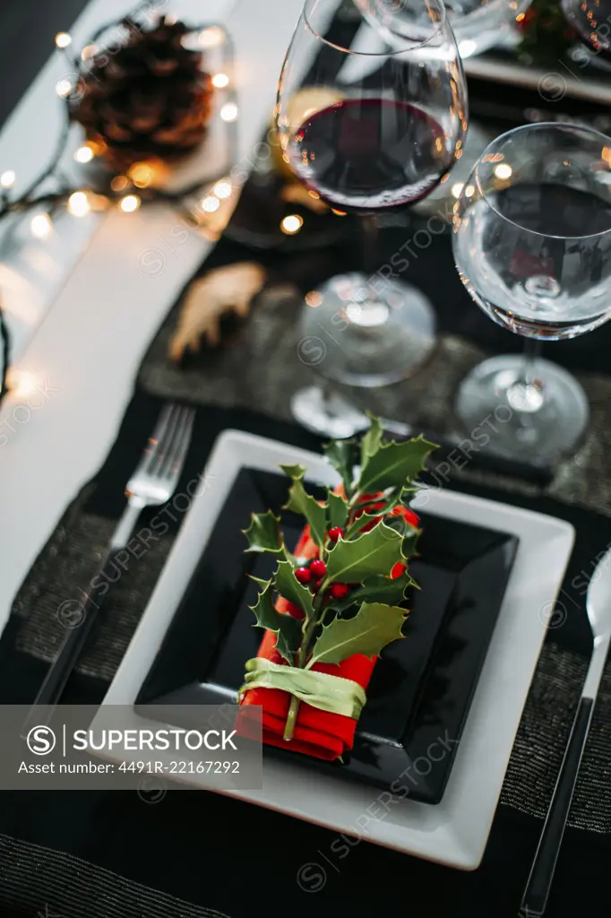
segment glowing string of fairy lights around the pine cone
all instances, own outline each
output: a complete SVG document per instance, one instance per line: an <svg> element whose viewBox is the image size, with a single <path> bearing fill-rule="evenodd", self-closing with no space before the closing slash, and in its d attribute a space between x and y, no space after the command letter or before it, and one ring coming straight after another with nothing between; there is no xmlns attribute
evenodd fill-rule
<svg viewBox="0 0 611 918"><path fill-rule="evenodd" d="M168 17L165 17L166 20ZM83 63L92 58L100 48L97 42L112 28L137 25L134 14L119 21L107 23L99 28L89 43L76 56L71 56L72 36L60 32L55 38L55 47L68 62L68 75L55 86L55 91L63 101L64 118L61 124L59 139L50 155L45 168L18 196L13 195L17 183L14 169L7 168L0 172L0 220L11 215L23 214L36 210L30 220L29 229L36 239L47 239L53 230L53 216L63 208L72 217L83 218L95 212L106 211L115 207L123 213L134 213L143 204L165 202L170 204L180 215L195 226L205 226L206 219L217 212L223 202L231 196L232 179L226 171L205 180L194 181L178 190L156 184L160 180L160 166L152 162L135 162L125 173L112 174L99 170L92 176L92 181L82 186L74 186L61 170L61 160L65 156L70 140L72 118L71 103L74 93L78 92L80 72ZM223 60L226 66L223 71L212 75L212 84L217 90L225 92L225 101L218 110L218 117L227 125L229 162L237 162L237 129L239 117L237 96L231 85L229 73L233 72L234 50L231 39L225 28L217 24L200 25L189 28L186 33L194 39L202 50L211 50L222 46ZM186 37L185 36L185 37ZM227 70L229 73L225 73ZM75 79L73 79L75 77ZM85 140L73 152L73 159L80 165L87 165L102 157L105 153L103 143ZM226 167L227 168L227 167ZM53 181L55 187L48 189ZM209 189L203 191L203 189ZM6 315L0 305L0 400L9 390L7 375L11 362L11 339Z"/></svg>

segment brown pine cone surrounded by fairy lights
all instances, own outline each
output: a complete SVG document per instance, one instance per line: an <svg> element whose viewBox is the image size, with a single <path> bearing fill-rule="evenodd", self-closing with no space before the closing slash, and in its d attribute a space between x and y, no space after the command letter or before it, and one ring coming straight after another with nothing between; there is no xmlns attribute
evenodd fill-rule
<svg viewBox="0 0 611 918"><path fill-rule="evenodd" d="M128 38L118 50L83 62L80 98L70 103L72 120L88 140L106 145L106 162L116 170L193 150L206 135L214 93L202 54L183 48L190 30L183 22L123 25Z"/></svg>

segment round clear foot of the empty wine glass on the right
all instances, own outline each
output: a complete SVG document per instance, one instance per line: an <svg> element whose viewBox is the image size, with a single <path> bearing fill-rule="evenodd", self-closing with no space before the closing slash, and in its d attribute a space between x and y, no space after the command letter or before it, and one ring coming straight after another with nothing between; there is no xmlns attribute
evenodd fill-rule
<svg viewBox="0 0 611 918"><path fill-rule="evenodd" d="M582 386L547 360L535 364L533 383L520 383L524 359L492 357L461 383L456 413L472 452L480 449L532 465L550 465L572 452L590 412ZM471 447L470 447L471 448Z"/></svg>

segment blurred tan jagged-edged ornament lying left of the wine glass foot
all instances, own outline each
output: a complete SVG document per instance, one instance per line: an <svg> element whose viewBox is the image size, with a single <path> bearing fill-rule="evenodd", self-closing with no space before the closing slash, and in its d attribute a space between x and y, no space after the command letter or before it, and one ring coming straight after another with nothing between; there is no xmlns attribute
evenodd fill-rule
<svg viewBox="0 0 611 918"><path fill-rule="evenodd" d="M171 359L177 362L185 351L197 352L202 339L217 347L220 319L228 313L246 317L266 277L261 264L240 262L215 268L195 280L184 297L178 328L170 342Z"/></svg>

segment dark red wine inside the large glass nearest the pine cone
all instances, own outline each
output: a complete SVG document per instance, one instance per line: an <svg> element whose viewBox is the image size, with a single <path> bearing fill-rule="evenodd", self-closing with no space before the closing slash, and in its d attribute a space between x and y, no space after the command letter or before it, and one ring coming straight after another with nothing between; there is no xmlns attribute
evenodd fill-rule
<svg viewBox="0 0 611 918"><path fill-rule="evenodd" d="M361 214L428 195L454 156L423 108L383 98L346 99L317 111L286 152L301 181L331 207Z"/></svg>

